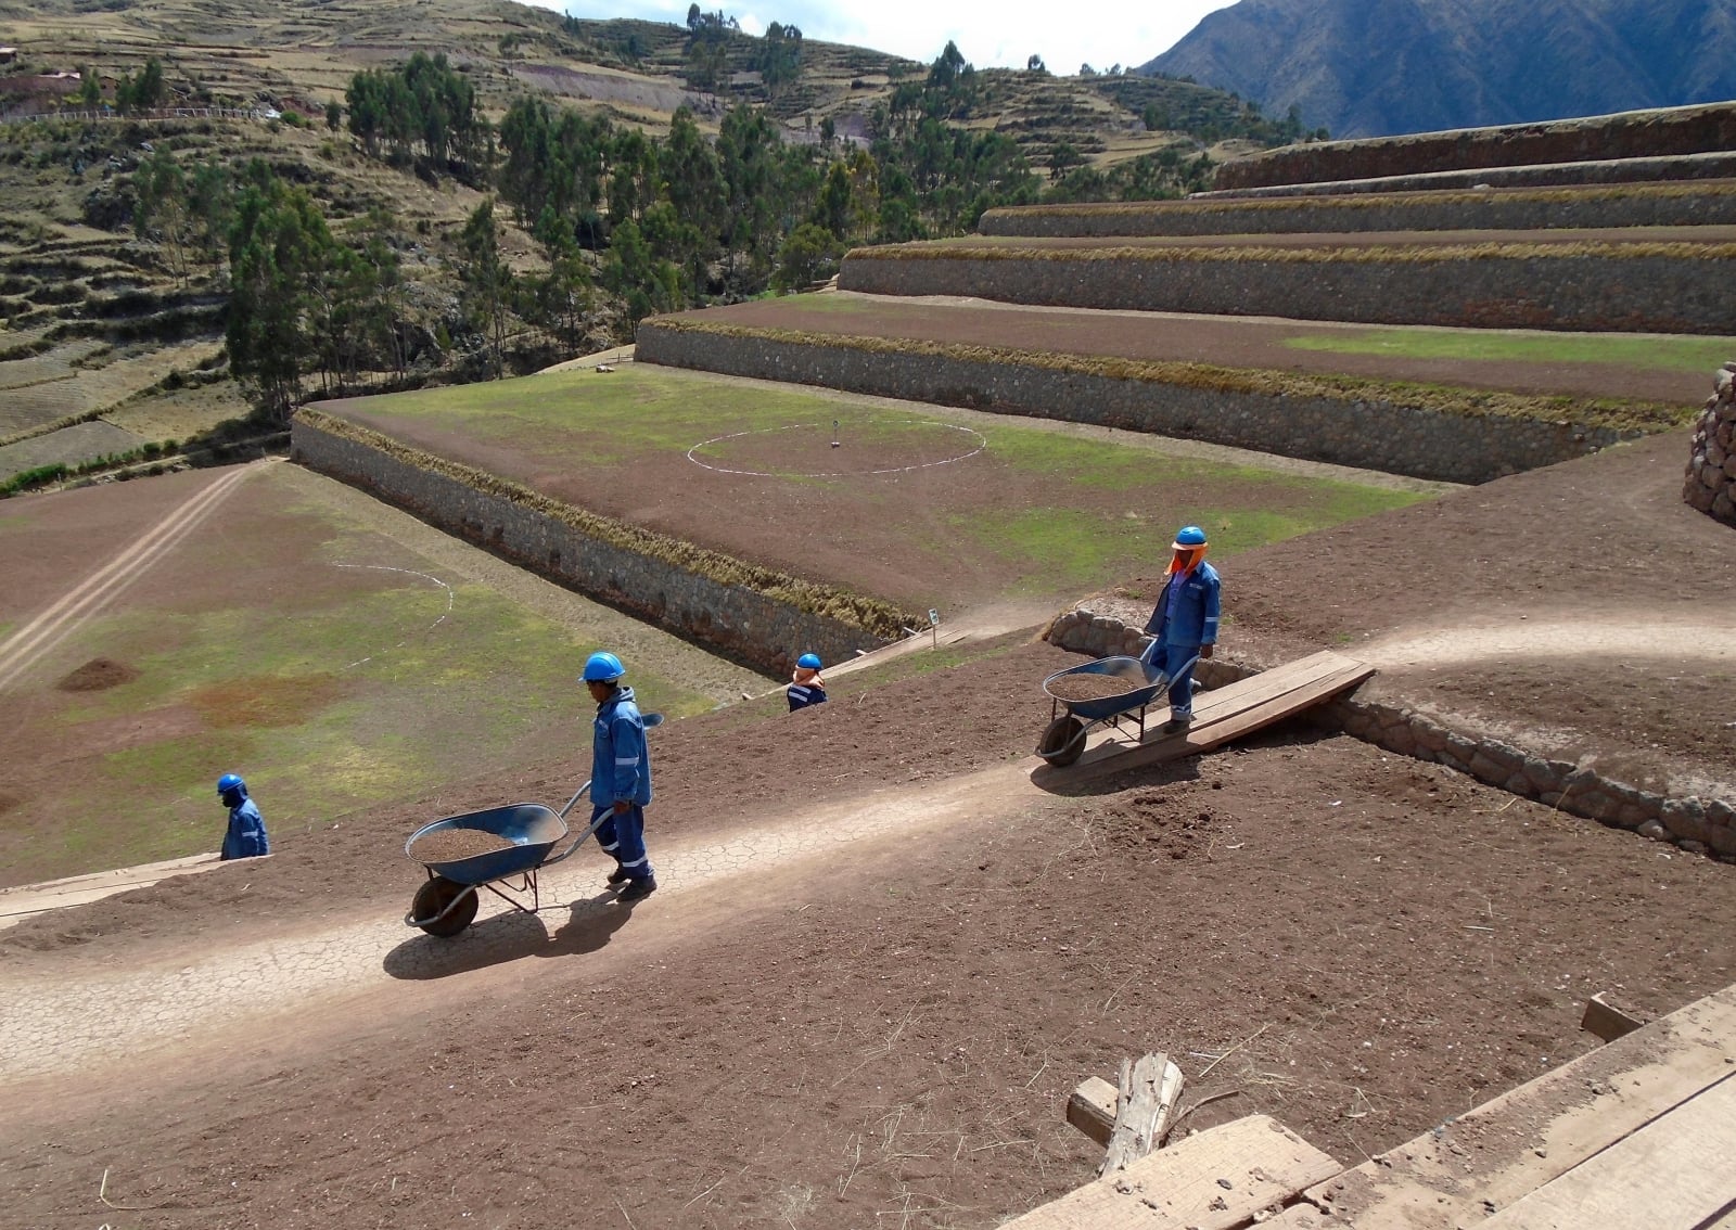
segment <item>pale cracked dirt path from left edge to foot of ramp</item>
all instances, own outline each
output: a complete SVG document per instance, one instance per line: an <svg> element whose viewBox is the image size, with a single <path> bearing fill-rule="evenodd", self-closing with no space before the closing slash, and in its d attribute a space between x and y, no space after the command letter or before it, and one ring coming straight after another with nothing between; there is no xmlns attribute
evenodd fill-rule
<svg viewBox="0 0 1736 1230"><path fill-rule="evenodd" d="M743 876L800 873L852 847L936 826L984 824L1021 803L1049 798L1031 781L1033 762L1014 762L941 784L877 791L773 824L720 833L705 841L654 847L658 893L635 914L635 932L656 942L679 939L684 923L656 906ZM241 874L245 864L217 874ZM550 869L543 897L569 907L583 925L613 909L599 893L602 866ZM149 1060L165 1048L198 1046L201 1034L274 1013L306 1013L314 1001L377 992L382 1011L413 1011L420 996L391 991L399 980L439 980L443 999L514 977L510 966L549 935L484 895L488 913L457 939L410 932L398 916L361 918L299 937L238 944L212 952L170 952L156 968L0 977L0 1081L109 1062ZM408 893L404 906L408 907ZM496 923L495 919L507 919ZM495 923L493 926L490 923ZM710 921L686 926L710 928ZM661 933L658 933L661 932ZM398 1003L387 999L391 996Z"/></svg>

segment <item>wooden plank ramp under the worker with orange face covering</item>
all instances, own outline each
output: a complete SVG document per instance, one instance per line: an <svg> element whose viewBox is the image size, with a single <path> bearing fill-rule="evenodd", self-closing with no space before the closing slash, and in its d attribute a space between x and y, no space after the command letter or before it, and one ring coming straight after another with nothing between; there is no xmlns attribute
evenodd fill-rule
<svg viewBox="0 0 1736 1230"><path fill-rule="evenodd" d="M1160 696L1160 703L1153 704L1147 715L1144 739L1139 737L1137 722L1127 727L1123 720L1121 727L1094 730L1083 755L1073 765L1064 769L1043 765L1036 772L1043 777L1052 774L1055 782L1087 781L1196 756L1332 699L1373 673L1375 668L1368 663L1332 651L1299 658L1227 687L1200 692L1194 699L1193 725L1174 736L1160 732L1168 720L1168 708L1161 704Z"/></svg>

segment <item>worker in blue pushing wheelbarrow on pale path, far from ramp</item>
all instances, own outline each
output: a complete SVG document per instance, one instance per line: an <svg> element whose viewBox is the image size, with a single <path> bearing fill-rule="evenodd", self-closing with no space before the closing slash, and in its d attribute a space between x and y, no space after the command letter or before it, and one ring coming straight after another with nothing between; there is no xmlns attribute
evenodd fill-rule
<svg viewBox="0 0 1736 1230"><path fill-rule="evenodd" d="M585 659L582 675L597 720L590 737L590 822L597 845L615 855L611 885L625 885L615 900L644 900L656 892L656 874L646 854L646 803L651 801L651 753L634 689L621 684L627 668L615 654Z"/></svg>

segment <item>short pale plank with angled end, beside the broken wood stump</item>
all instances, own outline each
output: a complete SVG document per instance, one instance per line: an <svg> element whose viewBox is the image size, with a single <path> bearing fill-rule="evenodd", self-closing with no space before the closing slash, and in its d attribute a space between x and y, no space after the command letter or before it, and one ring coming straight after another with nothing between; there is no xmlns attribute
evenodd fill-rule
<svg viewBox="0 0 1736 1230"><path fill-rule="evenodd" d="M1017 1230L1234 1230L1340 1169L1269 1116L1236 1119L1141 1157L1003 1223Z"/></svg>

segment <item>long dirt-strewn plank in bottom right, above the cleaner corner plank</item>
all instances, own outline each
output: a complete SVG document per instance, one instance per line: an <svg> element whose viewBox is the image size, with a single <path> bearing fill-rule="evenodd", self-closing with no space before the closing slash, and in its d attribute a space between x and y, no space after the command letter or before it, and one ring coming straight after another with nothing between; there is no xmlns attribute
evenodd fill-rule
<svg viewBox="0 0 1736 1230"><path fill-rule="evenodd" d="M1356 1227L1458 1230L1731 1074L1736 985L1599 1046L1307 1192ZM1726 1162L1727 1166L1727 1162Z"/></svg>

